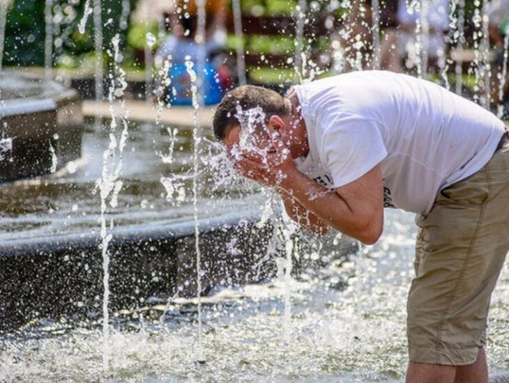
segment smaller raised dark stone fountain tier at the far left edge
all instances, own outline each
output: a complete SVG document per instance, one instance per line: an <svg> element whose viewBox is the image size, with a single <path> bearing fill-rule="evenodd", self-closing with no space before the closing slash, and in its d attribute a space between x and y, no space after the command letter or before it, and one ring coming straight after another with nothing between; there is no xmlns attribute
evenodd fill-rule
<svg viewBox="0 0 509 383"><path fill-rule="evenodd" d="M81 100L56 81L0 72L0 182L52 173L81 155Z"/></svg>

